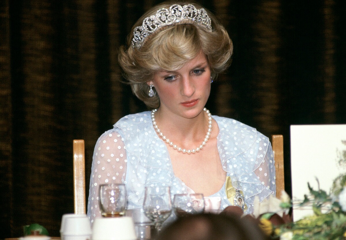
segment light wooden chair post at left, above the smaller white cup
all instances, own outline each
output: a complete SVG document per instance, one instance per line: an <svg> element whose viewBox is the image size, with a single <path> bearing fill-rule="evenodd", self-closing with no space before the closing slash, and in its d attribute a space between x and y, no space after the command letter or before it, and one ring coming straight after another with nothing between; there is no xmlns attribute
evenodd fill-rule
<svg viewBox="0 0 346 240"><path fill-rule="evenodd" d="M74 213L85 214L85 156L84 140L73 140Z"/></svg>

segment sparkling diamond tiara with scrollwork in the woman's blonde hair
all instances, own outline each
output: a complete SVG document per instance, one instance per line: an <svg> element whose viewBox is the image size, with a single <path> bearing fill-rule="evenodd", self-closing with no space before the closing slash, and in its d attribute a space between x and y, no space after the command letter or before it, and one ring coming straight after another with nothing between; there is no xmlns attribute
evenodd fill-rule
<svg viewBox="0 0 346 240"><path fill-rule="evenodd" d="M132 47L140 48L146 38L157 29L172 24L198 24L211 31L211 20L204 8L197 9L189 4L180 6L172 5L169 9L161 8L155 15L143 20L142 26L135 27L133 30Z"/></svg>

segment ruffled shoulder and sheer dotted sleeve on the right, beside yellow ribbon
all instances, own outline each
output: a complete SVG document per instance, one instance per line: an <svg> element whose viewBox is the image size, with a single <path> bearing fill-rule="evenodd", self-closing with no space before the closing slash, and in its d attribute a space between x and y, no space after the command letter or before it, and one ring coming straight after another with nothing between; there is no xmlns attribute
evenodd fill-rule
<svg viewBox="0 0 346 240"><path fill-rule="evenodd" d="M213 116L214 117L214 116ZM246 213L252 213L255 196L262 202L275 194L275 166L268 137L234 119L217 117L218 150L232 186L243 191Z"/></svg>

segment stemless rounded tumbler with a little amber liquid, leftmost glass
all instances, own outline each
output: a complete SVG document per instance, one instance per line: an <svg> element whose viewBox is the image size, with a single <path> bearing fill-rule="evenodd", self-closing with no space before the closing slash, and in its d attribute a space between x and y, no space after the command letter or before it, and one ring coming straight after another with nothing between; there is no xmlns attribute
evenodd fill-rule
<svg viewBox="0 0 346 240"><path fill-rule="evenodd" d="M125 214L126 188L124 184L100 185L100 209L104 217L119 217Z"/></svg>

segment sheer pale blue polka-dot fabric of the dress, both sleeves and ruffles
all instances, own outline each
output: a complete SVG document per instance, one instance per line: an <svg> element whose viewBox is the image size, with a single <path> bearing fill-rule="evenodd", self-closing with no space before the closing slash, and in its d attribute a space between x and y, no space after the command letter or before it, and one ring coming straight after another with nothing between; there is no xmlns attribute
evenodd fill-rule
<svg viewBox="0 0 346 240"><path fill-rule="evenodd" d="M232 185L244 192L247 212L252 212L254 196L262 201L275 194L273 151L267 137L233 119L212 116L219 126L217 147L222 166ZM202 150L203 151L203 150ZM226 180L226 179L225 179ZM112 130L102 134L95 145L90 177L88 216L93 222L100 216L100 184L124 183L128 192L128 209L141 208L144 187L171 186L172 197L193 192L174 176L165 143L152 125L150 112L121 118ZM231 205L225 184L210 197L221 198L221 210Z"/></svg>

